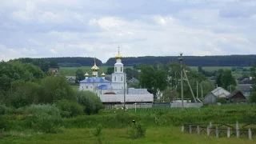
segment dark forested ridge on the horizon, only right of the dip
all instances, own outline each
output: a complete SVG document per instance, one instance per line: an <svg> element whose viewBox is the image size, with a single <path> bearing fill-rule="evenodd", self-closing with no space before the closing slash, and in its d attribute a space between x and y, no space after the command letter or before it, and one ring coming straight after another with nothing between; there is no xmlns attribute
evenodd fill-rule
<svg viewBox="0 0 256 144"><path fill-rule="evenodd" d="M122 58L122 62L125 66L133 66L135 63L153 65L156 62L162 64L178 62L178 58L178 56L129 57ZM183 62L187 66L254 66L256 65L256 55L183 56ZM115 58L110 58L105 65L113 66L114 63Z"/></svg>

